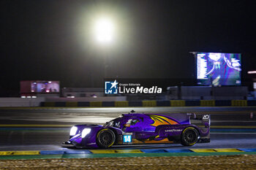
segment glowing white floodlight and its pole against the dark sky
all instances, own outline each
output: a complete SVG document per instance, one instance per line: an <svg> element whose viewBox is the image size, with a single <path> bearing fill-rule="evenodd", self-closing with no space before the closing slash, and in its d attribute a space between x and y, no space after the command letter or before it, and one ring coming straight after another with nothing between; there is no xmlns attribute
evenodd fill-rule
<svg viewBox="0 0 256 170"><path fill-rule="evenodd" d="M94 34L97 42L100 45L108 47L108 45L113 44L115 27L113 21L110 18L99 18L94 25ZM104 77L107 77L108 69L108 53L105 51L104 58Z"/></svg>

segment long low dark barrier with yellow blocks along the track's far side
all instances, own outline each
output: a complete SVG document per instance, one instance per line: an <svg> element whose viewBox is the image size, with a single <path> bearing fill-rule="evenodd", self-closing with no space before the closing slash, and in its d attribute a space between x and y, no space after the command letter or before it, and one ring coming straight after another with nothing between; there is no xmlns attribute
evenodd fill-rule
<svg viewBox="0 0 256 170"><path fill-rule="evenodd" d="M253 107L247 100L171 100L171 101L46 101L41 107Z"/></svg>

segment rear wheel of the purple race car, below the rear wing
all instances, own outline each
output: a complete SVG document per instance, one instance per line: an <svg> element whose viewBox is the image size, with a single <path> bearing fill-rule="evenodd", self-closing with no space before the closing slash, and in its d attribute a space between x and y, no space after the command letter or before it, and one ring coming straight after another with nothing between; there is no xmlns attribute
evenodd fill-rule
<svg viewBox="0 0 256 170"><path fill-rule="evenodd" d="M184 146L192 146L198 141L198 131L193 127L185 128L181 134L181 144Z"/></svg>

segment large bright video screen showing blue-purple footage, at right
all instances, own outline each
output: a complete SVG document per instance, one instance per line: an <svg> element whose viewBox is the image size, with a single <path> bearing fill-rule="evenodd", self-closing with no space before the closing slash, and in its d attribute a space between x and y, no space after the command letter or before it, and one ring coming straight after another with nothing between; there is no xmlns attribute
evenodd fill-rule
<svg viewBox="0 0 256 170"><path fill-rule="evenodd" d="M197 53L197 85L241 85L241 54Z"/></svg>

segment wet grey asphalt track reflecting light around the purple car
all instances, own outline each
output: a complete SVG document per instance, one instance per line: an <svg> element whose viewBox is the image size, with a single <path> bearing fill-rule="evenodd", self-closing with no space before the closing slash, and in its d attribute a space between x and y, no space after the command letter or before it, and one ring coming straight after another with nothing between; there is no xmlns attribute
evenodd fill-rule
<svg viewBox="0 0 256 170"><path fill-rule="evenodd" d="M77 123L105 123L135 109L136 112L195 112L211 114L211 143L183 147L181 144L116 146L118 149L145 148L252 148L256 147L256 107L136 107L78 109L0 109L0 150L74 150L64 147L69 127ZM251 116L251 112L254 117ZM52 127L51 127L52 126ZM229 126L236 131L222 131ZM241 126L240 128L238 126ZM247 127L247 128L246 128ZM237 129L244 129L243 131Z"/></svg>

